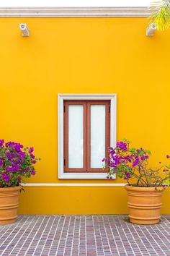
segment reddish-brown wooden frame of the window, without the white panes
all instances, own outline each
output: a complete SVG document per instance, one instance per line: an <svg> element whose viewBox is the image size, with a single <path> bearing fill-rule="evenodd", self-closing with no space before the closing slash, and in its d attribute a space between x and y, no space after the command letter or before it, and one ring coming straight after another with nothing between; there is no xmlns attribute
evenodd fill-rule
<svg viewBox="0 0 170 256"><path fill-rule="evenodd" d="M71 105L84 106L84 167L83 168L69 168L68 167L68 107ZM107 172L107 169L101 168L91 168L91 106L92 105L104 105L106 109L105 114L105 155L107 156L107 148L110 145L109 135L110 135L110 101L99 101L99 100L66 100L64 101L64 116L63 116L63 134L64 134L64 173L86 173L86 172ZM102 166L102 159L101 159Z"/></svg>

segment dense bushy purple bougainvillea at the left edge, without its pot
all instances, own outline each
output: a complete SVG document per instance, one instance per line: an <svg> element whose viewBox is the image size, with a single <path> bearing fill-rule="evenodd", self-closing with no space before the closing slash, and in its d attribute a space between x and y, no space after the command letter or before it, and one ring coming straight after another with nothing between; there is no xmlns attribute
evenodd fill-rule
<svg viewBox="0 0 170 256"><path fill-rule="evenodd" d="M35 158L33 151L20 143L0 140L0 187L19 186L25 178L35 175L34 164L40 158Z"/></svg>

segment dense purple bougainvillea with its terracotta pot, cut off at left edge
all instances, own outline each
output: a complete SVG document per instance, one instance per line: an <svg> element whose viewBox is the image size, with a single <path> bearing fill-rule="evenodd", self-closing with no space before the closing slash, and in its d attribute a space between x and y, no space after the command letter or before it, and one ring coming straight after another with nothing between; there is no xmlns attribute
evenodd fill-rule
<svg viewBox="0 0 170 256"><path fill-rule="evenodd" d="M16 142L0 140L0 224L17 219L20 182L35 175L34 164L40 158L33 155L34 148L24 148Z"/></svg>

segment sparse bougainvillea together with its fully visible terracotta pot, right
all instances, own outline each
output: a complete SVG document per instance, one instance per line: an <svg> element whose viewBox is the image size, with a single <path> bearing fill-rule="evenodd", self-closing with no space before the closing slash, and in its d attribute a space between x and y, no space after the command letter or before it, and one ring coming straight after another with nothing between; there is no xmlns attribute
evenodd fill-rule
<svg viewBox="0 0 170 256"><path fill-rule="evenodd" d="M117 142L115 148L110 147L108 158L104 158L104 166L109 169L107 179L117 174L128 184L129 218L131 223L154 224L161 218L161 197L165 187L169 187L170 165L158 168L148 166L150 150L130 148L130 142ZM170 158L166 155L166 158Z"/></svg>

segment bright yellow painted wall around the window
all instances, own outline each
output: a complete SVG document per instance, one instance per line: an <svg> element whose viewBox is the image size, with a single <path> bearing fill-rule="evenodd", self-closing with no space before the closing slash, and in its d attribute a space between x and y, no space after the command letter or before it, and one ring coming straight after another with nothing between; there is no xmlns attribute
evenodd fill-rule
<svg viewBox="0 0 170 256"><path fill-rule="evenodd" d="M19 22L27 22L23 38ZM34 146L34 183L58 180L58 93L117 93L117 140L151 149L151 164L169 147L170 30L146 37L146 18L1 18L1 138ZM117 179L113 183L120 183ZM25 187L19 213L127 213L123 187ZM170 189L163 213L170 213Z"/></svg>

